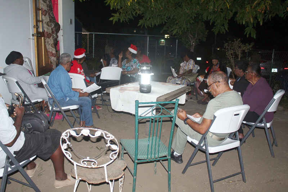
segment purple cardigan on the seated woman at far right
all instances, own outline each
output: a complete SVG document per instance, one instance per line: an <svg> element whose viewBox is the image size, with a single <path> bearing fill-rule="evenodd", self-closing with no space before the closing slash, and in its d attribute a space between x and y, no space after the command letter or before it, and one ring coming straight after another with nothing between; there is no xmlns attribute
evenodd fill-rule
<svg viewBox="0 0 288 192"><path fill-rule="evenodd" d="M242 97L243 104L250 106L249 111L255 111L258 115L261 115L273 98L273 92L267 81L261 77L254 85L250 83ZM265 114L266 122L270 122L273 119L273 112L267 112Z"/></svg>

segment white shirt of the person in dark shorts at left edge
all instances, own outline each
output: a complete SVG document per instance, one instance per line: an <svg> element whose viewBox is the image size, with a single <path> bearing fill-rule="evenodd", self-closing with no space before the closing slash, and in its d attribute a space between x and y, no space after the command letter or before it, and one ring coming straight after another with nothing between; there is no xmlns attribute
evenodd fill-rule
<svg viewBox="0 0 288 192"><path fill-rule="evenodd" d="M15 138L17 131L13 125L13 119L8 115L5 102L2 98L0 98L0 122L0 140L5 145L7 143L10 143ZM22 148L24 141L24 133L21 132L14 145L7 148L12 154L14 154L14 151L19 151ZM0 168L4 167L5 159L6 154L0 147Z"/></svg>

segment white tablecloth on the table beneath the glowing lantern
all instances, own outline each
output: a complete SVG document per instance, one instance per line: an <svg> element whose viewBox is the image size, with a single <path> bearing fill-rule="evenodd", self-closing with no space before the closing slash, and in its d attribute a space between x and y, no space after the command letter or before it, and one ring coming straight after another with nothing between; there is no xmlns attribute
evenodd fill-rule
<svg viewBox="0 0 288 192"><path fill-rule="evenodd" d="M111 107L115 111L124 111L135 114L135 100L139 102L155 102L156 99L164 94L173 92L185 85L176 85L162 82L151 82L151 93L140 93L139 82L129 83L110 89ZM183 94L179 99L179 104L185 104L186 95ZM139 115L147 108L139 108Z"/></svg>

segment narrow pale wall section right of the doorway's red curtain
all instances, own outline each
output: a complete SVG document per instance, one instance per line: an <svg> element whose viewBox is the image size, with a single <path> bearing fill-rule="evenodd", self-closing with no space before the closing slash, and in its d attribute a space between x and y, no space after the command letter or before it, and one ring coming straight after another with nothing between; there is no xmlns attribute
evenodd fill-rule
<svg viewBox="0 0 288 192"><path fill-rule="evenodd" d="M72 58L75 51L75 11L72 0L59 0L60 54L69 53Z"/></svg>

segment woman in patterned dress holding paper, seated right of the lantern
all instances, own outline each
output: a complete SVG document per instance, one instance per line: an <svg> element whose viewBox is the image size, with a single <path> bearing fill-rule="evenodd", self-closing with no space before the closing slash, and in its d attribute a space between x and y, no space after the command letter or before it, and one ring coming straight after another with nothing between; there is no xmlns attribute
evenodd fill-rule
<svg viewBox="0 0 288 192"><path fill-rule="evenodd" d="M190 74L194 71L195 62L192 59L193 52L188 51L188 52L183 53L182 58L184 62L180 64L180 70L179 70L178 76L168 77L166 80L167 83L172 83L172 84L180 83L181 85L187 85L187 83L189 82L189 80L183 78L182 76Z"/></svg>

